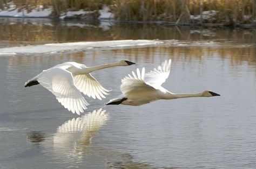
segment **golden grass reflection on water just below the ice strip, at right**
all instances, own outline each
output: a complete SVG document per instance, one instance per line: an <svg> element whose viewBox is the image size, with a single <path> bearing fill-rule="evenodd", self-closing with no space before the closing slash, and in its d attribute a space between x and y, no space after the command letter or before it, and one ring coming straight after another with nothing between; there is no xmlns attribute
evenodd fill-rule
<svg viewBox="0 0 256 169"><path fill-rule="evenodd" d="M129 60L134 60L135 62L138 62L138 60L152 62L156 56L160 56L171 58L173 61L182 60L189 63L193 59L204 61L207 55L208 58L219 56L220 59L228 59L231 66L239 66L244 61L247 61L248 65L255 66L256 64L254 47L146 47L113 50L112 52L116 53L116 55L129 55Z"/></svg>

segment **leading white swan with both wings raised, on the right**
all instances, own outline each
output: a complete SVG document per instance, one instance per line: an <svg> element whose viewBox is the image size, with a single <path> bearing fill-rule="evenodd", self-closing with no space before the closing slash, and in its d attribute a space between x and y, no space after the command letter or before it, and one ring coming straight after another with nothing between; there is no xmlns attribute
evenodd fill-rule
<svg viewBox="0 0 256 169"><path fill-rule="evenodd" d="M109 104L125 104L125 105L142 105L150 103L159 99L175 99L184 97L211 97L220 96L212 91L203 91L202 93L196 94L174 94L165 88L161 87L161 84L165 82L170 74L171 59L165 61L154 68L153 71L145 74L145 68L142 68L140 72L137 68L136 73L132 72L132 75L126 76L122 79L122 85L120 89L122 95L117 98L110 100L106 105Z"/></svg>

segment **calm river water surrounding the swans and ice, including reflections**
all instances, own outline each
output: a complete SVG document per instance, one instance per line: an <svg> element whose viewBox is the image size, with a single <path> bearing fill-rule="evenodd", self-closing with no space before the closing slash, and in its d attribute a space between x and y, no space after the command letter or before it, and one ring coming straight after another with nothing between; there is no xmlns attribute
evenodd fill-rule
<svg viewBox="0 0 256 169"><path fill-rule="evenodd" d="M256 168L255 29L0 18L0 48L123 39L177 44L0 55L0 168ZM24 88L65 61L93 66L122 59L137 65L92 73L112 91L102 101L86 97L81 116L42 86ZM166 59L172 59L166 89L221 96L105 106L120 94L124 76Z"/></svg>

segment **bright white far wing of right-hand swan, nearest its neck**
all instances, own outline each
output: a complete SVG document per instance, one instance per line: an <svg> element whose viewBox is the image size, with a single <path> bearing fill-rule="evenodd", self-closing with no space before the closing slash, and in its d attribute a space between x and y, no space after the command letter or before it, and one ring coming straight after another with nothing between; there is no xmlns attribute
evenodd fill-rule
<svg viewBox="0 0 256 169"><path fill-rule="evenodd" d="M171 63L172 60L169 59L165 60L161 66L158 68L154 68L153 71L145 74L145 82L154 87L155 89L159 89L161 84L165 82L165 80L169 77L170 70L171 70Z"/></svg>

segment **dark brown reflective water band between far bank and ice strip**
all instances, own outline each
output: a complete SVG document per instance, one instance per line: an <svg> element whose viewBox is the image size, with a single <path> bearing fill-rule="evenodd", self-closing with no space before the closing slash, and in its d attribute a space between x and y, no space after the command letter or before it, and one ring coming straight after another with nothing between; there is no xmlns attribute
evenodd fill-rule
<svg viewBox="0 0 256 169"><path fill-rule="evenodd" d="M83 20L0 18L0 39L24 44L123 39L225 39L234 43L250 44L255 43L256 30L254 28L177 27L154 24L85 23Z"/></svg>

